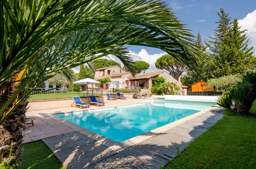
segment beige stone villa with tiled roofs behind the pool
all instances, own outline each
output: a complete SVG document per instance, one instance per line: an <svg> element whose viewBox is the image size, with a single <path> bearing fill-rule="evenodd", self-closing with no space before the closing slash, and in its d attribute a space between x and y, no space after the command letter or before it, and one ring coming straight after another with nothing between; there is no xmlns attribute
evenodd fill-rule
<svg viewBox="0 0 256 169"><path fill-rule="evenodd" d="M122 85L117 85L115 88L119 89L137 89L141 87L142 89L151 89L152 84L155 81L155 77L162 76L165 77L169 82L175 83L178 87L181 88L181 95L187 95L186 86L182 85L181 80L176 80L170 74L165 71L157 72L148 72L148 73L139 73L135 76L132 76L130 72L122 70L119 66L110 66L106 68L96 69L95 70L95 80L100 80L103 78L110 78L111 81L119 81ZM106 85L106 84L105 84ZM99 87L99 85L96 85ZM106 88L113 88L112 84L105 86Z"/></svg>

